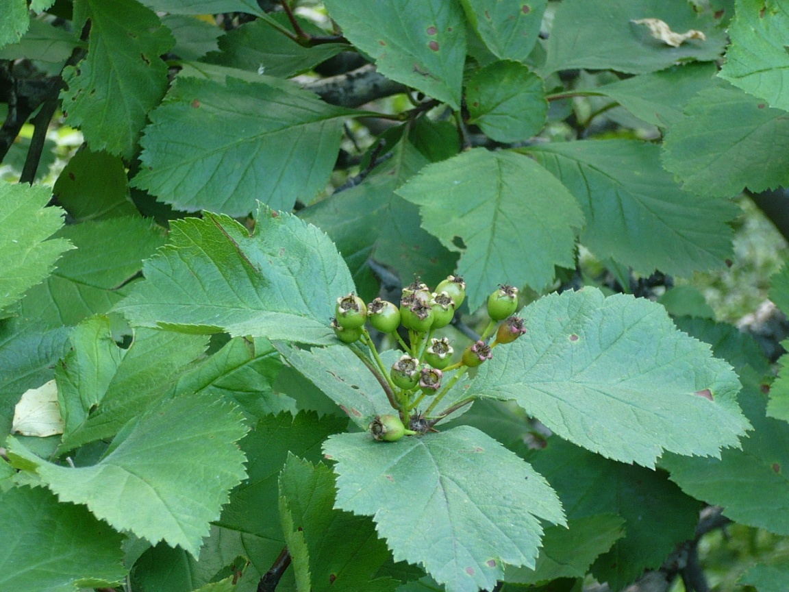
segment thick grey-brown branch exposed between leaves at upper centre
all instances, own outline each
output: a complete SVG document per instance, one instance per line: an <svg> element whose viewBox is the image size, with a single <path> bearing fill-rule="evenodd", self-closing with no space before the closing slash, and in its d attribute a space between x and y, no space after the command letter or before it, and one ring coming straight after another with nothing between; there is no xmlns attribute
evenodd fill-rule
<svg viewBox="0 0 789 592"><path fill-rule="evenodd" d="M378 73L375 66L368 64L339 76L307 84L308 91L315 92L321 99L340 107L359 107L384 96L408 92L405 84L389 80Z"/></svg>

